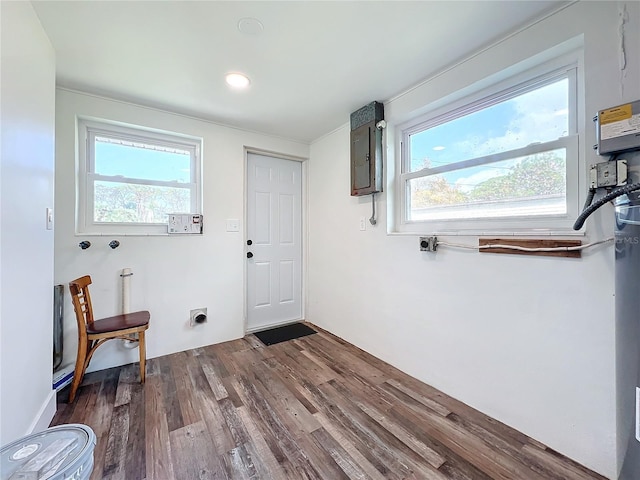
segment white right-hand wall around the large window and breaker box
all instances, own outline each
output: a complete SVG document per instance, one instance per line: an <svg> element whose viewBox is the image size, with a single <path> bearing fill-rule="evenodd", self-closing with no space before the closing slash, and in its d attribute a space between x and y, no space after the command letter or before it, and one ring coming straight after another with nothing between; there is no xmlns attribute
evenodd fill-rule
<svg viewBox="0 0 640 480"><path fill-rule="evenodd" d="M387 102L387 120L403 121L424 105L584 35L587 158L581 161L592 163L598 158L590 148L591 117L640 98L640 4L626 4L625 72L618 64L621 5L574 4ZM617 476L612 247L585 251L582 259L445 248L421 253L416 236L385 231L388 193L378 201L378 226L367 223L367 231L359 231L371 199L349 196L348 126L314 142L309 163L307 319ZM589 220L585 241L612 233L612 209L606 207ZM477 244L476 238L454 240Z"/></svg>

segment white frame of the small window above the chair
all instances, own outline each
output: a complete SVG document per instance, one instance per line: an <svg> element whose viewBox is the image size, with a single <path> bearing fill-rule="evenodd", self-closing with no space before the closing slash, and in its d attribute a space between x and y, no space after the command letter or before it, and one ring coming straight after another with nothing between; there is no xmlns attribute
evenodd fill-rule
<svg viewBox="0 0 640 480"><path fill-rule="evenodd" d="M129 142L158 145L186 150L190 154L191 179L189 183L158 181L144 178L100 175L95 172L95 137L108 137ZM95 222L94 183L100 180L187 188L191 192L190 212L202 213L202 139L143 127L123 125L106 120L78 118L78 183L77 183L77 235L167 235L166 223Z"/></svg>

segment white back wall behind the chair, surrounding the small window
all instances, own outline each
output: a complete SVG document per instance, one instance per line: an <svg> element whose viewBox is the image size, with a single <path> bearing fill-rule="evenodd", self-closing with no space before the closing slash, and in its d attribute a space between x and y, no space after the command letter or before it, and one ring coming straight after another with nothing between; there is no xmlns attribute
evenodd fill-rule
<svg viewBox="0 0 640 480"><path fill-rule="evenodd" d="M90 116L194 135L204 139L204 235L76 236L76 116ZM77 327L66 286L93 279L97 317L121 313L120 271L131 267L131 309L151 312L147 357L153 358L244 335L244 228L226 232L226 219L244 218L244 147L308 157L309 146L189 117L58 89L56 92L55 282L65 285L64 363L73 363ZM107 244L120 241L112 250ZM78 243L92 246L81 250ZM207 307L209 322L190 328L191 309ZM89 371L136 361L138 350L108 342Z"/></svg>

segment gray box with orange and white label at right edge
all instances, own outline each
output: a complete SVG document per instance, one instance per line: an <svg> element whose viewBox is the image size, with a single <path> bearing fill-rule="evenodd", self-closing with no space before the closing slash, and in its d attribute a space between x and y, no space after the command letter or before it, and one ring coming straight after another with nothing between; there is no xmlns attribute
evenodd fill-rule
<svg viewBox="0 0 640 480"><path fill-rule="evenodd" d="M640 100L600 110L594 120L598 155L640 148Z"/></svg>

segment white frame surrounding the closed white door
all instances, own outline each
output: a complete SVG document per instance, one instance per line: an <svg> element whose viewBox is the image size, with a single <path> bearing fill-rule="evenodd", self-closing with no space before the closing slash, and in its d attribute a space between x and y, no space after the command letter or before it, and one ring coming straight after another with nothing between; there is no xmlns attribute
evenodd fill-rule
<svg viewBox="0 0 640 480"><path fill-rule="evenodd" d="M308 261L308 249L307 249L307 245L308 245L308 239L309 239L309 228L308 228L308 223L307 223L307 218L308 218L308 206L309 206L309 199L308 199L308 165L309 165L309 159L306 157L298 157L296 155L287 155L285 153L280 153L280 152L274 152L271 150L265 150L262 148L254 148L254 147L248 147L248 146L244 146L244 153L243 153L243 157L244 157L244 165L243 165L243 171L244 171L244 179L243 179L243 183L244 183L244 193L243 193L243 203L244 203L244 207L243 207L243 234L242 234L242 261L243 261L243 306L242 306L242 313L243 313L243 322L242 322L242 330L244 332L244 335L247 335L248 333L252 333L252 332L257 332L259 330L262 330L261 328L257 328L257 329L249 329L249 316L248 316L248 309L247 309L247 303L248 303L248 295L249 295L249 288L248 288L248 263L246 261L246 253L247 253L247 235L248 235L248 222L247 222L247 213L249 210L249 185L248 185L248 179L247 179L247 174L249 173L249 154L256 154L256 155L265 155L267 157L274 157L274 158L281 158L283 160L291 160L293 162L300 162L301 163L301 167L302 167L302 179L301 179L301 186L302 186L302 196L301 196L301 205L300 205L300 215L301 215L301 219L300 219L300 228L302 229L301 233L301 242L302 244L300 245L300 247L302 248L302 255L301 255L301 266L302 266L302 275L301 275L301 285L300 285L300 289L302 290L300 292L300 301L302 303L301 307L302 307L302 318L301 320L304 320L306 317L306 312L307 312L307 279L308 279L308 275L307 275L307 261ZM271 325L269 328L272 327L276 327L278 325L286 325L288 323L292 323L291 320L285 320L283 322L279 322L276 324Z"/></svg>

